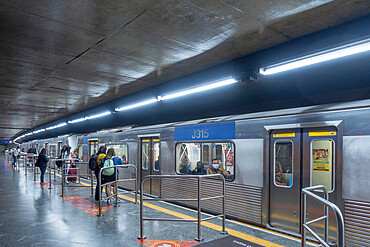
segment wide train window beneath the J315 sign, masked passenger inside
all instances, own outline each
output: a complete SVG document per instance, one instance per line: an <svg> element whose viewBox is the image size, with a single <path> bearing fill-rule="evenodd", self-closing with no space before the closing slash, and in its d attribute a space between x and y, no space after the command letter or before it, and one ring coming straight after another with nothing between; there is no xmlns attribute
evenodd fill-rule
<svg viewBox="0 0 370 247"><path fill-rule="evenodd" d="M219 168L212 167L212 160L219 160ZM234 144L177 143L176 172L178 174L223 174L227 180L234 179Z"/></svg>

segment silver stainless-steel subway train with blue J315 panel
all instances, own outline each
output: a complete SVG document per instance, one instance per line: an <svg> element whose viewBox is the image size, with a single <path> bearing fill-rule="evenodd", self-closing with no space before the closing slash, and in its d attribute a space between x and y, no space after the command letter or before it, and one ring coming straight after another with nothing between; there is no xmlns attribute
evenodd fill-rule
<svg viewBox="0 0 370 247"><path fill-rule="evenodd" d="M196 198L197 181L186 176L206 174L218 159L226 171L227 217L291 235L300 232L302 188L325 185L344 215L346 245L370 246L370 100L126 126L22 147L46 147L56 157L67 141L84 160L101 145L113 147L116 155L137 165L139 180L149 174L179 176L148 180L144 193L154 197ZM124 187L133 189L132 184ZM220 193L219 179L202 180L203 197ZM203 201L202 210L220 212L221 201ZM323 206L307 200L308 220L323 213ZM323 221L313 227L322 234ZM329 233L335 238L333 213Z"/></svg>

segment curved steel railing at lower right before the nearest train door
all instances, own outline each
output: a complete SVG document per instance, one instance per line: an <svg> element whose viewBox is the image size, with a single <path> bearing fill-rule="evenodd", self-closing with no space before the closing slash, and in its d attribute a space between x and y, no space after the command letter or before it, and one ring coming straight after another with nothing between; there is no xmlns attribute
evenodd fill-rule
<svg viewBox="0 0 370 247"><path fill-rule="evenodd" d="M324 198L312 193L313 190L322 190ZM306 222L307 196L313 198L324 206L324 216ZM306 230L309 231L323 246L330 247L329 244L329 208L334 211L337 220L337 244L338 247L344 247L344 220L340 209L334 203L329 201L329 193L325 186L317 185L302 189L301 199L301 241L302 247L306 246ZM324 239L315 233L308 225L324 220Z"/></svg>

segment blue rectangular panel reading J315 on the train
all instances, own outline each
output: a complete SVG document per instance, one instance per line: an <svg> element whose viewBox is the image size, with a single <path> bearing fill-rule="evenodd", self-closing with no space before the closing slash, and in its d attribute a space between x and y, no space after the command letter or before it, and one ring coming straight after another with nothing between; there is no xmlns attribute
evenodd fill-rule
<svg viewBox="0 0 370 247"><path fill-rule="evenodd" d="M235 139L235 122L175 127L175 141Z"/></svg>

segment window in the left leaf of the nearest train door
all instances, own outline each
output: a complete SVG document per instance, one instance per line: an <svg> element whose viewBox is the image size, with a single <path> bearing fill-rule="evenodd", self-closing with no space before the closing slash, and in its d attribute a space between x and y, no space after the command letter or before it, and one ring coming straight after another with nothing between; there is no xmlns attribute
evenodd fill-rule
<svg viewBox="0 0 370 247"><path fill-rule="evenodd" d="M282 187L293 185L293 143L289 140L275 142L274 184Z"/></svg>

